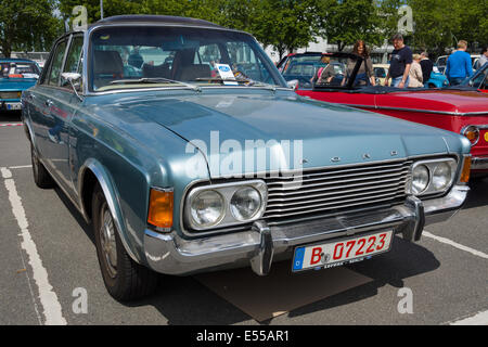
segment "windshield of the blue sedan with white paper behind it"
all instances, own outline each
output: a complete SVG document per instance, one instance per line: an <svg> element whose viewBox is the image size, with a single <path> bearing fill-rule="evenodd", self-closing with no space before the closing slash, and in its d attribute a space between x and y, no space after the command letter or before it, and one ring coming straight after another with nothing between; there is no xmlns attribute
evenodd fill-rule
<svg viewBox="0 0 488 347"><path fill-rule="evenodd" d="M107 27L91 35L89 88L286 87L253 37L188 27Z"/></svg>

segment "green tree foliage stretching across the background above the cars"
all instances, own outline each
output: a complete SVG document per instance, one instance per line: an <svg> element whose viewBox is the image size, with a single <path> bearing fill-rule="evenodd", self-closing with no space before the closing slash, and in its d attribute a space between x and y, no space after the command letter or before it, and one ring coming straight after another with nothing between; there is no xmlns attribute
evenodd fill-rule
<svg viewBox="0 0 488 347"><path fill-rule="evenodd" d="M363 39L381 46L397 30L398 9L413 10L418 49L444 53L457 40L487 44L488 0L104 0L104 16L166 14L202 18L248 31L280 55L308 46L316 36L339 50ZM100 0L0 0L0 46L11 50L49 50L64 31L73 9L85 5L88 24L100 20ZM57 8L61 18L53 16Z"/></svg>

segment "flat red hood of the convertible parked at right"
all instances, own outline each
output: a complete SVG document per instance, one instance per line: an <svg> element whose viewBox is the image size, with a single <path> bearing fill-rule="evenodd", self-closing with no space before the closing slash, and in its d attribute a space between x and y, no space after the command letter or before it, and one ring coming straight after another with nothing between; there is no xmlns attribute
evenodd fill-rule
<svg viewBox="0 0 488 347"><path fill-rule="evenodd" d="M488 95L477 91L425 90L376 94L376 107L414 108L453 114L488 114Z"/></svg>

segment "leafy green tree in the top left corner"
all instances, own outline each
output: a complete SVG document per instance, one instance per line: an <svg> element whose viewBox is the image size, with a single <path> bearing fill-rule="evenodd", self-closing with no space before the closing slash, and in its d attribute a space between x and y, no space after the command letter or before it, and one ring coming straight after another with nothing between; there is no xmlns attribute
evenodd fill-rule
<svg viewBox="0 0 488 347"><path fill-rule="evenodd" d="M0 0L0 47L12 51L47 51L62 31L53 16L54 0Z"/></svg>

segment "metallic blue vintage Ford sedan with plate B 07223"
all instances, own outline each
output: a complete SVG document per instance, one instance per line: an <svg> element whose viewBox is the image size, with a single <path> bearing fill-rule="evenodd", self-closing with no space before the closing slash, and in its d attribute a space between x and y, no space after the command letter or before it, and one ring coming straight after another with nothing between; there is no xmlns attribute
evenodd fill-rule
<svg viewBox="0 0 488 347"><path fill-rule="evenodd" d="M118 300L156 272L369 259L468 191L464 137L299 97L251 35L200 20L66 34L22 102L34 180L93 226Z"/></svg>

